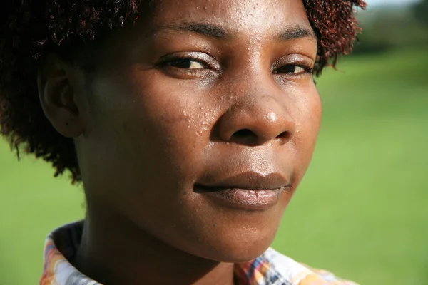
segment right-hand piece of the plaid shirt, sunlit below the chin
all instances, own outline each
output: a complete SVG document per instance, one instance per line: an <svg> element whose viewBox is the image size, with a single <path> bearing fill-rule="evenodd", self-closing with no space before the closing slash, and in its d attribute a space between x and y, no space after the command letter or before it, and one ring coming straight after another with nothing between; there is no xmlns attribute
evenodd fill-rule
<svg viewBox="0 0 428 285"><path fill-rule="evenodd" d="M341 279L330 271L313 269L287 257L275 249L267 249L258 259L247 264L251 284L272 285L357 285Z"/></svg>

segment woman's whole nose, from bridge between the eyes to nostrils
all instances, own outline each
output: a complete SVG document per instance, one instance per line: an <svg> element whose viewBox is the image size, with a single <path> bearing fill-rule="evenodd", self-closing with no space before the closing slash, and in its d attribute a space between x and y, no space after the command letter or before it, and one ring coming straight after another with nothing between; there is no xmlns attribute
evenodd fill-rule
<svg viewBox="0 0 428 285"><path fill-rule="evenodd" d="M284 144L295 133L295 121L289 112L292 106L287 105L284 91L271 74L249 69L235 73L229 85L233 100L218 121L220 138L245 145L271 141Z"/></svg>

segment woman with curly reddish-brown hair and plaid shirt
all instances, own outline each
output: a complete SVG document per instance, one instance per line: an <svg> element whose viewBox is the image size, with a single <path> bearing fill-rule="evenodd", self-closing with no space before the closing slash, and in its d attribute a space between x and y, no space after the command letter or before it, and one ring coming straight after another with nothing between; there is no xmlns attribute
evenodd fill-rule
<svg viewBox="0 0 428 285"><path fill-rule="evenodd" d="M269 247L364 1L2 6L1 133L86 194L40 284L352 284Z"/></svg>

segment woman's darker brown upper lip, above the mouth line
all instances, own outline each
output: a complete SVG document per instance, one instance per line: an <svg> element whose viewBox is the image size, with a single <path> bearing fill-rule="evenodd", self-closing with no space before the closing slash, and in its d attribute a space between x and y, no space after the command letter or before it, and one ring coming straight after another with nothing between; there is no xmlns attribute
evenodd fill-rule
<svg viewBox="0 0 428 285"><path fill-rule="evenodd" d="M276 190L288 187L288 180L280 173L260 174L258 172L242 172L238 175L220 178L218 180L196 183L195 186L209 188L231 188L245 190ZM215 189L213 189L215 190Z"/></svg>

